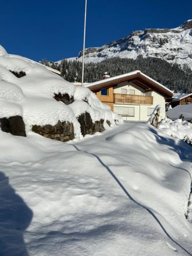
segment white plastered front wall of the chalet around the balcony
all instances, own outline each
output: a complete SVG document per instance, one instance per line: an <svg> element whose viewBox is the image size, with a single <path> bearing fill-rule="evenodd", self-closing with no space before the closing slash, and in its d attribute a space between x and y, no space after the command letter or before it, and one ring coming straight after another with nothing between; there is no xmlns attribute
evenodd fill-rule
<svg viewBox="0 0 192 256"><path fill-rule="evenodd" d="M138 87L134 82L122 82L117 85L117 87L114 87L114 93L120 93L121 89L126 89L127 94L130 94L130 90L135 90L135 95L143 95L144 90ZM157 105L161 106L160 110L160 118L165 118L165 99L164 96L161 94L153 91L145 93L145 96L153 96L153 105L139 105L139 104L117 104L114 103L114 109L115 106L124 106L124 107L131 107L135 108L135 116L123 116L123 120L131 120L131 121L147 121L150 116L147 116L147 109L152 108L155 109Z"/></svg>

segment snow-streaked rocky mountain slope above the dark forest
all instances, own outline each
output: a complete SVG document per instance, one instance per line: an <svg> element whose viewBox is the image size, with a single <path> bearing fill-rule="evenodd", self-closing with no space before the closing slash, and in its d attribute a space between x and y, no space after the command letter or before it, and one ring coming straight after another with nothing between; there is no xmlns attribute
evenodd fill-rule
<svg viewBox="0 0 192 256"><path fill-rule="evenodd" d="M192 69L192 19L175 29L145 29L110 42L102 47L85 50L86 62L99 62L106 58L158 57ZM73 59L73 58L71 58ZM82 61L82 51L77 60Z"/></svg>

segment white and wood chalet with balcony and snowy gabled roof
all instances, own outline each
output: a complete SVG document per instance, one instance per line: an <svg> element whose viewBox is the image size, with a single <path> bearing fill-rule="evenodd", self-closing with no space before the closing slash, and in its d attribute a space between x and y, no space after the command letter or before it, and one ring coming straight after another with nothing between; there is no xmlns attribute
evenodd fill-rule
<svg viewBox="0 0 192 256"><path fill-rule="evenodd" d="M173 93L162 84L140 71L104 77L86 84L97 97L124 120L147 121L157 105L161 105L161 118L165 118L165 98Z"/></svg>

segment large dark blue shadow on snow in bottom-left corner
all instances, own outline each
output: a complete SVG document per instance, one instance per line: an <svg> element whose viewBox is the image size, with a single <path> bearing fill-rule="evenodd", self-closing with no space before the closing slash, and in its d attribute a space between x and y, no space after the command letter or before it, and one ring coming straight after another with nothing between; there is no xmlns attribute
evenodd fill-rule
<svg viewBox="0 0 192 256"><path fill-rule="evenodd" d="M29 255L24 231L33 217L32 210L9 184L9 178L0 172L0 255Z"/></svg>

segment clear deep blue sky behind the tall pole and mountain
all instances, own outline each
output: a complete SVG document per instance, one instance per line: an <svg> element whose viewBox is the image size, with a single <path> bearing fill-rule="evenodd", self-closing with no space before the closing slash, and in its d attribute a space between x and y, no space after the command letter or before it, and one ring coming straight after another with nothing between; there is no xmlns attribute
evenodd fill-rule
<svg viewBox="0 0 192 256"><path fill-rule="evenodd" d="M192 1L87 0L86 47L145 28L174 28L192 19ZM2 1L0 44L34 60L74 57L82 49L84 0Z"/></svg>

